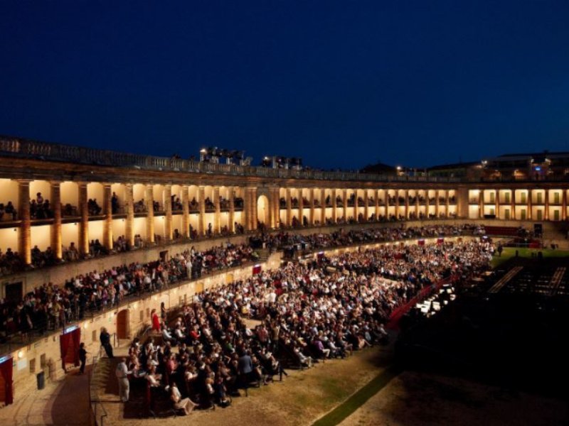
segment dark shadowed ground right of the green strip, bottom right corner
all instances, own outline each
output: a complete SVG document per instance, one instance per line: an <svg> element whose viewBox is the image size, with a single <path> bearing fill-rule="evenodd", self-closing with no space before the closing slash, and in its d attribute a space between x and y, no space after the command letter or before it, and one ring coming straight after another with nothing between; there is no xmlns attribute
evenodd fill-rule
<svg viewBox="0 0 569 426"><path fill-rule="evenodd" d="M341 426L567 425L567 404L459 378L404 372Z"/></svg>

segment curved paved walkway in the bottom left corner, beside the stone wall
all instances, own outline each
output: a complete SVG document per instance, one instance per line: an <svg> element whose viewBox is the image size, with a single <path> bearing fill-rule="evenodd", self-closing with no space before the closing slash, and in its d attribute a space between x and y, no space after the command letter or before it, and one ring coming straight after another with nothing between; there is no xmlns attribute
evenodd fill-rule
<svg viewBox="0 0 569 426"><path fill-rule="evenodd" d="M46 381L41 391L33 390L0 408L0 425L89 425L89 371L78 375L78 368L71 368L59 381Z"/></svg>

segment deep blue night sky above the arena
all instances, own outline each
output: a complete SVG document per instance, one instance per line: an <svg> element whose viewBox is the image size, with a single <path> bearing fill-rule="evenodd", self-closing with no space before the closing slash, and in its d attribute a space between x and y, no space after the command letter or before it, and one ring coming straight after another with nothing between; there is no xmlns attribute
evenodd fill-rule
<svg viewBox="0 0 569 426"><path fill-rule="evenodd" d="M569 151L569 1L0 2L0 134L317 168Z"/></svg>

